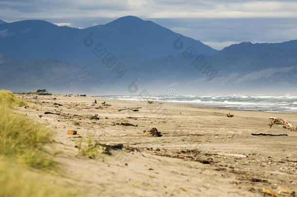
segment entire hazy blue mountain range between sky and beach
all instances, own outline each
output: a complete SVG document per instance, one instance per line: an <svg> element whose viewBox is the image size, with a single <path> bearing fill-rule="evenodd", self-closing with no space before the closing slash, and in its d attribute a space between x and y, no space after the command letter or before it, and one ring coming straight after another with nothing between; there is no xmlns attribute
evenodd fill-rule
<svg viewBox="0 0 297 197"><path fill-rule="evenodd" d="M132 16L86 29L42 20L2 23L0 54L0 89L13 91L267 93L297 86L297 40L217 51Z"/></svg>

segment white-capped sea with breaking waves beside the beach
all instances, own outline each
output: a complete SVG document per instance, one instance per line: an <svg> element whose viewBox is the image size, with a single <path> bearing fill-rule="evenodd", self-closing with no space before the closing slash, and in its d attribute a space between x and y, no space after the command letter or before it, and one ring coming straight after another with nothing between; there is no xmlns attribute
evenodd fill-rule
<svg viewBox="0 0 297 197"><path fill-rule="evenodd" d="M163 103L190 104L197 106L297 113L297 95L285 94L209 94L176 96L99 96L119 100L157 101Z"/></svg>

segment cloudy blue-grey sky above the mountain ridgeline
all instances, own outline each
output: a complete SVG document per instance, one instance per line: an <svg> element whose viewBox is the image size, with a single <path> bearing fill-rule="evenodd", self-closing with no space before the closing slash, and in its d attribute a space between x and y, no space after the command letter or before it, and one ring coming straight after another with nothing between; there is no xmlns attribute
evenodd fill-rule
<svg viewBox="0 0 297 197"><path fill-rule="evenodd" d="M86 28L136 16L214 49L297 39L297 0L0 0L0 19Z"/></svg>

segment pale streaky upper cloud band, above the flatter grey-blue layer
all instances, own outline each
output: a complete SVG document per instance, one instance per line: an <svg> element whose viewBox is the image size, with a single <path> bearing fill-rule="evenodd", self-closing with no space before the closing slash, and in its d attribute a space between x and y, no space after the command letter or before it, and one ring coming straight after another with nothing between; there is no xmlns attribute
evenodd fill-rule
<svg viewBox="0 0 297 197"><path fill-rule="evenodd" d="M294 0L1 0L0 13L20 17L297 18ZM0 16L1 17L1 16Z"/></svg>

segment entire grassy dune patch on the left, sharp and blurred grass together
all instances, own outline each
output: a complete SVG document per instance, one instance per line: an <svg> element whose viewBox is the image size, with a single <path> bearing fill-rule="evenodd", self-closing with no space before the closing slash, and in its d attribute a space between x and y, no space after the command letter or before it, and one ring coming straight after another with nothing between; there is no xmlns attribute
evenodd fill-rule
<svg viewBox="0 0 297 197"><path fill-rule="evenodd" d="M0 90L0 197L73 196L46 174L58 169L45 148L52 141L50 131L14 113L13 107L24 105Z"/></svg>

